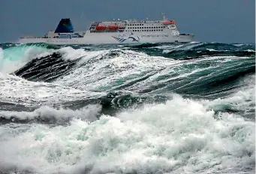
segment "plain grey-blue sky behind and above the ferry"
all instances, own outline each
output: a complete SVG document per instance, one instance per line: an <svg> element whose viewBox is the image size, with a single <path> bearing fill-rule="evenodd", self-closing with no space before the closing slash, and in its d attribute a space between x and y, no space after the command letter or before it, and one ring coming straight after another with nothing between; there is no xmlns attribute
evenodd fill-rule
<svg viewBox="0 0 256 174"><path fill-rule="evenodd" d="M71 18L75 30L95 20L143 20L165 13L197 41L255 42L255 0L1 0L0 42L55 30Z"/></svg>

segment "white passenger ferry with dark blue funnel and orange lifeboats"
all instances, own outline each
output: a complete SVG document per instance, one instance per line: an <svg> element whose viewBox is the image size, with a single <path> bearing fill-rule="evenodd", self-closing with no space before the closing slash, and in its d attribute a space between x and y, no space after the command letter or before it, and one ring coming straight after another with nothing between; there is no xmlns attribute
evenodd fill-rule
<svg viewBox="0 0 256 174"><path fill-rule="evenodd" d="M20 43L127 44L191 42L194 34L180 34L174 20L112 20L92 23L86 31L74 31L70 19L62 19L55 31L43 37L20 37Z"/></svg>

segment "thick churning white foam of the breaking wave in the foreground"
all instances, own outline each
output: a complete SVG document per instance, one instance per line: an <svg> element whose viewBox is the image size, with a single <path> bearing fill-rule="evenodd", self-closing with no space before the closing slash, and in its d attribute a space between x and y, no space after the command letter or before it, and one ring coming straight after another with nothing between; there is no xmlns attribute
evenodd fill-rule
<svg viewBox="0 0 256 174"><path fill-rule="evenodd" d="M15 131L15 125L5 125L0 127L0 168L38 173L254 170L254 122L213 114L177 95L166 104L145 105L116 118L102 115L91 123L74 118L66 127L23 124Z"/></svg>

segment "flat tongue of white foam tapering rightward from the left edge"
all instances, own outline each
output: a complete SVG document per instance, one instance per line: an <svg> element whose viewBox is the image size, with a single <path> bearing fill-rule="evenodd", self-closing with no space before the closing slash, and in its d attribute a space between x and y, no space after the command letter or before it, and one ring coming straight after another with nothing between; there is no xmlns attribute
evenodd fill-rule
<svg viewBox="0 0 256 174"><path fill-rule="evenodd" d="M61 104L106 95L105 92L87 92L52 83L32 82L0 72L0 101L24 105Z"/></svg>

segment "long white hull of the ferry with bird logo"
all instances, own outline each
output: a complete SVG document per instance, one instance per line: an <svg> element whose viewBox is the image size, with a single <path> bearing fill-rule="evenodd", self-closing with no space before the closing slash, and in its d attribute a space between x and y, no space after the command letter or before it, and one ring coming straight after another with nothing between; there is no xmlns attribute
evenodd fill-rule
<svg viewBox="0 0 256 174"><path fill-rule="evenodd" d="M71 38L20 38L20 43L67 44L130 44L130 43L187 43L193 40L193 34L176 34L164 32L86 32L83 37Z"/></svg>

